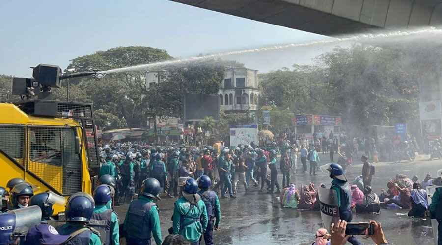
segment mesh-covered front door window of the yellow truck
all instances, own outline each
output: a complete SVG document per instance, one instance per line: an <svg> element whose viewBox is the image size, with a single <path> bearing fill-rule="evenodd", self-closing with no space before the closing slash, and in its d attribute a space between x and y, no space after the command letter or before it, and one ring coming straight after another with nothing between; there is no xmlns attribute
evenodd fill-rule
<svg viewBox="0 0 442 245"><path fill-rule="evenodd" d="M31 127L29 140L31 161L61 166L76 157L73 128Z"/></svg>

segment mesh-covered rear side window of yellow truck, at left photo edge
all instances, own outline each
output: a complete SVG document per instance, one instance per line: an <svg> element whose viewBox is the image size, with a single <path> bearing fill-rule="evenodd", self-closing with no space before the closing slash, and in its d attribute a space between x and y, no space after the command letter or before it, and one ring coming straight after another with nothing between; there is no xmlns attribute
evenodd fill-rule
<svg viewBox="0 0 442 245"><path fill-rule="evenodd" d="M0 149L23 165L25 127L0 125Z"/></svg>

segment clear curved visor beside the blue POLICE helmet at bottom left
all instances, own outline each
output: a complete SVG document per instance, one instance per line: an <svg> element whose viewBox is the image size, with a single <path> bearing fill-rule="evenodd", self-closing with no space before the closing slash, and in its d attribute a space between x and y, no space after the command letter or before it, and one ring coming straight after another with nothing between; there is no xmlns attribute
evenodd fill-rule
<svg viewBox="0 0 442 245"><path fill-rule="evenodd" d="M37 226L41 221L41 209L39 206L14 209L8 212L16 218L14 234L26 234L31 227Z"/></svg>

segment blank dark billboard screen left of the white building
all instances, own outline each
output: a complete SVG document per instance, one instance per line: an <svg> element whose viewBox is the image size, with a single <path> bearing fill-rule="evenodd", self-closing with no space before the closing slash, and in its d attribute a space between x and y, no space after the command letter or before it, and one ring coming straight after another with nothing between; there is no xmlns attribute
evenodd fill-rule
<svg viewBox="0 0 442 245"><path fill-rule="evenodd" d="M202 121L205 117L220 120L220 100L218 95L184 95L184 121Z"/></svg>

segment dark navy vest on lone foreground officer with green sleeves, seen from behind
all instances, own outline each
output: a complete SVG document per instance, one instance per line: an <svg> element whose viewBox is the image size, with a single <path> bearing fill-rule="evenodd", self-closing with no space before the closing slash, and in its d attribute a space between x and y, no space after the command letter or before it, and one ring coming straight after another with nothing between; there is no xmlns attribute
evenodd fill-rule
<svg viewBox="0 0 442 245"><path fill-rule="evenodd" d="M139 199L132 201L124 221L127 236L141 240L150 239L152 227L149 224L149 212L156 205L153 202L144 203Z"/></svg>

